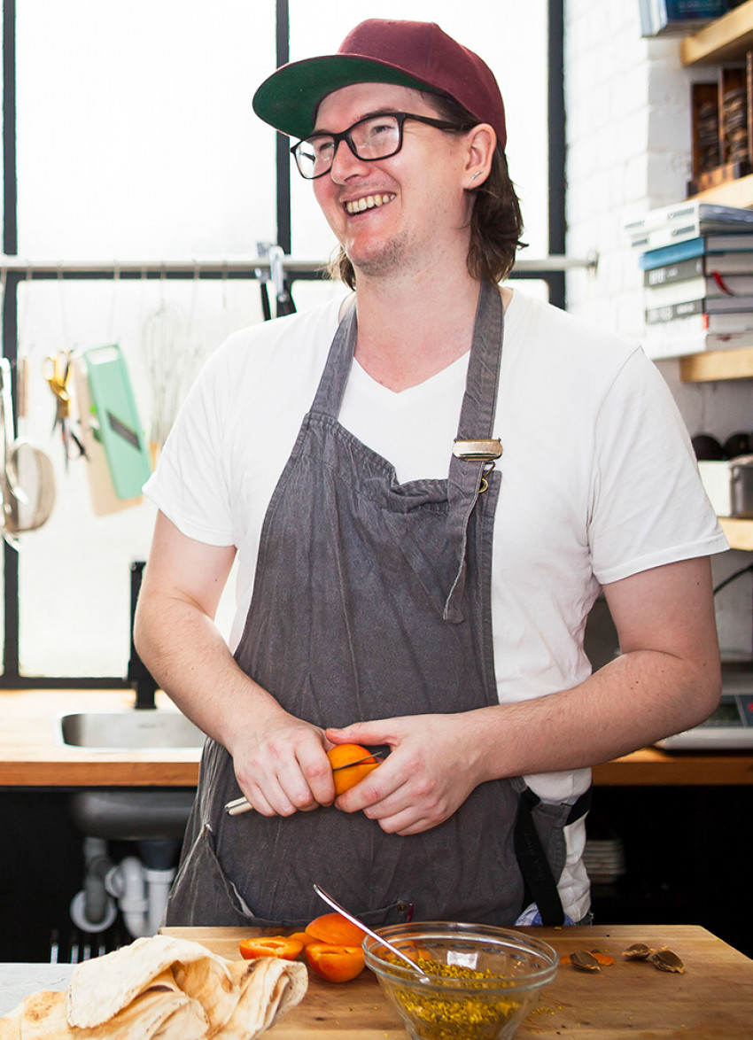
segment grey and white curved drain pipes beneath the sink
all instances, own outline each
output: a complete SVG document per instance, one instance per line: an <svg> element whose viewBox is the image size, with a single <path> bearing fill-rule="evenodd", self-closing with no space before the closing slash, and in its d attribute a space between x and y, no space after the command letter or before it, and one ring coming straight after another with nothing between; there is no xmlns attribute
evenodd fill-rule
<svg viewBox="0 0 753 1040"><path fill-rule="evenodd" d="M114 865L102 838L84 838L84 887L70 907L74 925L82 932L103 932L120 909L134 939L154 935L167 905L175 867L148 867L137 856L127 856Z"/></svg>

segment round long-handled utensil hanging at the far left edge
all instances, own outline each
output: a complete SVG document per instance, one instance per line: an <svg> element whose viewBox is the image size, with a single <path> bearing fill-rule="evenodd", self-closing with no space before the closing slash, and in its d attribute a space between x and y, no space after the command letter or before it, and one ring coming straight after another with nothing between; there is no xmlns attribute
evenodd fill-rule
<svg viewBox="0 0 753 1040"><path fill-rule="evenodd" d="M0 408L3 452L0 469L3 537L17 548L16 535L35 530L49 518L55 502L55 477L48 457L16 436L10 363L0 358Z"/></svg>

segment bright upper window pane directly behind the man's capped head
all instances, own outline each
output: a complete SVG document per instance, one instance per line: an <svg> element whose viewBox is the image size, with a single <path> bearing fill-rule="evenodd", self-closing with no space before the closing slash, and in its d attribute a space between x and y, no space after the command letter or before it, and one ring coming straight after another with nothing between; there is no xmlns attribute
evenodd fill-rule
<svg viewBox="0 0 753 1040"><path fill-rule="evenodd" d="M359 22L380 18L437 22L475 51L499 82L508 121L508 162L518 189L528 248L521 257L548 249L547 4L460 5L450 0L290 0L290 57L295 61L337 51ZM525 42L521 46L521 41ZM311 185L291 173L293 254L328 258L334 237L313 200Z"/></svg>

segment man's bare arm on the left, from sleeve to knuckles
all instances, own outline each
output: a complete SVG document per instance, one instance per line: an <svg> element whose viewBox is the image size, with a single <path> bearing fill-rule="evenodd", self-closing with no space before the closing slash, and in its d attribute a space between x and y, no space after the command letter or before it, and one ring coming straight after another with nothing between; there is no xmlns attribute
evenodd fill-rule
<svg viewBox="0 0 753 1040"><path fill-rule="evenodd" d="M232 546L187 538L159 513L136 610L138 653L178 707L228 749L257 812L287 816L331 805L322 731L245 675L214 625L234 557Z"/></svg>

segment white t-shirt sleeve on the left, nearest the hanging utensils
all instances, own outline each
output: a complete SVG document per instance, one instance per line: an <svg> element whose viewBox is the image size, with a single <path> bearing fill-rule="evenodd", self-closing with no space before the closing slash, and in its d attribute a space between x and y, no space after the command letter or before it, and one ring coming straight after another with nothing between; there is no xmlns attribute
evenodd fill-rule
<svg viewBox="0 0 753 1040"><path fill-rule="evenodd" d="M188 538L233 545L224 451L228 367L220 347L186 395L144 493Z"/></svg>

